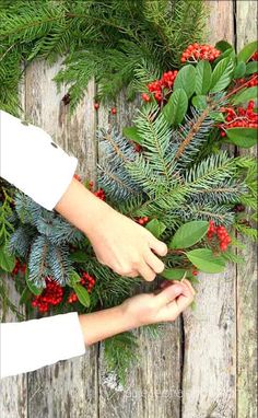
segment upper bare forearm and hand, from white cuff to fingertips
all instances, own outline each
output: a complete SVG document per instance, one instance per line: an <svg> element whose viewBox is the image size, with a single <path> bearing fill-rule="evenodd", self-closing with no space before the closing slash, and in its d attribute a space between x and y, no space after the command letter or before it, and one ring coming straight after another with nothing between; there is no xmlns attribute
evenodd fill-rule
<svg viewBox="0 0 258 418"><path fill-rule="evenodd" d="M142 276L151 281L163 271L164 263L156 255L166 255L166 244L77 179L72 179L55 209L89 237L98 262L118 275Z"/></svg>

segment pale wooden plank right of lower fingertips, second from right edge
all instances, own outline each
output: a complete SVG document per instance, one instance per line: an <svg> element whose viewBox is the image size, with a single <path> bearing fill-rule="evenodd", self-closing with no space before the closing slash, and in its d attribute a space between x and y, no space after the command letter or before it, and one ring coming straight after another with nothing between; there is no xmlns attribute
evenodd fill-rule
<svg viewBox="0 0 258 418"><path fill-rule="evenodd" d="M234 40L232 1L207 1L209 42ZM235 416L235 266L200 275L196 311L184 313L184 418Z"/></svg>

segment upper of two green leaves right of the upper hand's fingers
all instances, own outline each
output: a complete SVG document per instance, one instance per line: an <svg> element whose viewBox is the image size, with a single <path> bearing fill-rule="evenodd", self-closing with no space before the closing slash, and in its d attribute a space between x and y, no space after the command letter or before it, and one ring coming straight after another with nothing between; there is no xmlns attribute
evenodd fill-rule
<svg viewBox="0 0 258 418"><path fill-rule="evenodd" d="M209 228L208 221L191 221L181 225L173 236L169 248L188 248L203 239Z"/></svg>

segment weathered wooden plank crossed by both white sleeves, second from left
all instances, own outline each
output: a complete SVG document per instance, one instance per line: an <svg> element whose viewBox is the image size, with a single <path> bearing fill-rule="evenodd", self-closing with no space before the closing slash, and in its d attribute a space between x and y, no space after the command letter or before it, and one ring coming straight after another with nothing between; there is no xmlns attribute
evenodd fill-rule
<svg viewBox="0 0 258 418"><path fill-rule="evenodd" d="M26 116L43 127L68 152L79 158L79 173L95 172L94 83L69 120L68 106L61 102L66 91L57 93L51 81L60 63L49 68L43 61L26 71ZM47 170L47 164L46 164ZM97 416L97 346L85 356L58 362L28 374L28 416L34 418L94 418Z"/></svg>

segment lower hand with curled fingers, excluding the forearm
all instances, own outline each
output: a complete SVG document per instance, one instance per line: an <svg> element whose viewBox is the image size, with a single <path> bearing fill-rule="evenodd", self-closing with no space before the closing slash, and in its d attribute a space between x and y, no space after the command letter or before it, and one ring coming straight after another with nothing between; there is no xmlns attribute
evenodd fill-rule
<svg viewBox="0 0 258 418"><path fill-rule="evenodd" d="M120 307L131 327L171 322L192 303L195 294L189 280L173 280L164 282L159 293L137 294L124 301Z"/></svg>

